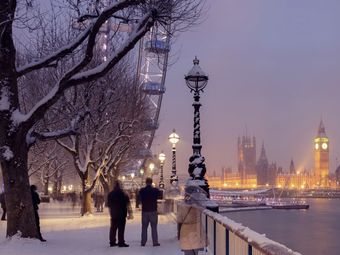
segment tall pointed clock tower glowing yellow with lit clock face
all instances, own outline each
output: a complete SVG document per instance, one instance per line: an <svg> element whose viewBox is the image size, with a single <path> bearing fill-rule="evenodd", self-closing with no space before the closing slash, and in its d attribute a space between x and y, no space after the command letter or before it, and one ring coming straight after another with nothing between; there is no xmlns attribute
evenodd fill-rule
<svg viewBox="0 0 340 255"><path fill-rule="evenodd" d="M329 175L329 139L321 120L318 134L314 139L314 173L318 187L328 186Z"/></svg>

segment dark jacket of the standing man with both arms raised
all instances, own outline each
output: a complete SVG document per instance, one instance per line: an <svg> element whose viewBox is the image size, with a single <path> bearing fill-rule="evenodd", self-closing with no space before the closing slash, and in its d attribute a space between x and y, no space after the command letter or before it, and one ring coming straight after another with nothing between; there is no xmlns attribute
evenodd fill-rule
<svg viewBox="0 0 340 255"><path fill-rule="evenodd" d="M151 185L141 188L139 196L142 203L142 212L157 212L157 199L160 195L160 190Z"/></svg>

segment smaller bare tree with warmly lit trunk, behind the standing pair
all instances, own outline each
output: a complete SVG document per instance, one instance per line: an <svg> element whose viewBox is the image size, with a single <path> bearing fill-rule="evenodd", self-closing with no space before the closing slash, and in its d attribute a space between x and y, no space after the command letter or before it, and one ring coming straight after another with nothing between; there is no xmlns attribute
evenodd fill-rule
<svg viewBox="0 0 340 255"><path fill-rule="evenodd" d="M105 183L116 171L115 166L141 136L142 123L148 119L145 96L129 73L125 62L100 79L100 84L77 89L80 102L70 107L75 111L87 108L89 114L76 135L58 140L72 155L81 180L81 215L92 213L91 192L99 180Z"/></svg>

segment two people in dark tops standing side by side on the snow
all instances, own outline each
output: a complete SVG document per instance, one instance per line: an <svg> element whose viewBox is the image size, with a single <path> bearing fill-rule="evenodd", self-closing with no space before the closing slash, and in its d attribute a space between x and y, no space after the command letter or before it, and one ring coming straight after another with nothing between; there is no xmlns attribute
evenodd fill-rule
<svg viewBox="0 0 340 255"><path fill-rule="evenodd" d="M147 242L147 229L151 225L153 246L160 246L157 233L157 199L160 197L160 190L152 187L152 179L146 178L146 186L139 191L140 201L142 204L142 235L141 246ZM108 207L110 209L111 226L110 226L110 246L129 247L125 243L124 232L126 218L132 219L132 209L129 196L123 191L119 181L116 182L113 191L107 197ZM118 230L118 243L116 234Z"/></svg>

